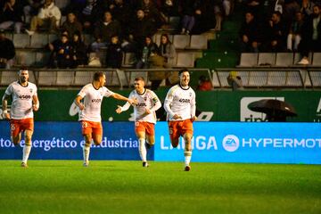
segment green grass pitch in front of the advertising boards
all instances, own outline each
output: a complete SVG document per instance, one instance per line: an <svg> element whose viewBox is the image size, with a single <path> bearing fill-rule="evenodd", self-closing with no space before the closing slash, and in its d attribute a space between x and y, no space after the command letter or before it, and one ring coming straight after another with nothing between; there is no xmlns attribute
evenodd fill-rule
<svg viewBox="0 0 321 214"><path fill-rule="evenodd" d="M321 166L0 161L0 213L321 213Z"/></svg>

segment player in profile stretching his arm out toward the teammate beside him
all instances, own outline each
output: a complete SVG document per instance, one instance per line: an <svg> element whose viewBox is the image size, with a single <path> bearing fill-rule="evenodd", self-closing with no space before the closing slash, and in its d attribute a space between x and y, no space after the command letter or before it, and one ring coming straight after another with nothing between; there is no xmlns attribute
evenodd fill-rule
<svg viewBox="0 0 321 214"><path fill-rule="evenodd" d="M95 72L93 82L84 86L75 99L75 103L80 110L79 121L81 121L82 125L82 135L85 138L85 145L83 147L84 167L89 165L89 152L92 140L94 140L95 145L102 143L103 126L101 106L103 97L111 96L117 100L127 101L130 104L136 103L135 100L111 92L104 86L105 83L106 76L103 72Z"/></svg>

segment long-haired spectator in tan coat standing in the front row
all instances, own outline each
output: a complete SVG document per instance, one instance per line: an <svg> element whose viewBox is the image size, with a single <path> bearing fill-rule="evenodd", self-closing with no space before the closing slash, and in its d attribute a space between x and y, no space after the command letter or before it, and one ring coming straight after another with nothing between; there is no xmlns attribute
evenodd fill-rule
<svg viewBox="0 0 321 214"><path fill-rule="evenodd" d="M171 68L175 65L175 59L176 59L175 46L169 41L169 35L167 34L161 35L160 53L161 53L161 56L164 57L165 68Z"/></svg>

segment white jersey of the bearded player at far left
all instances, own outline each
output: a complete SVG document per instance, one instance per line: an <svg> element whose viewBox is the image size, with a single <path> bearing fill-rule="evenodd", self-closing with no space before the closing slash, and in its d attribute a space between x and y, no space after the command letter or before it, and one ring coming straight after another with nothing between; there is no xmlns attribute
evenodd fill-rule
<svg viewBox="0 0 321 214"><path fill-rule="evenodd" d="M12 119L33 118L32 97L37 95L35 84L29 82L27 86L21 86L19 81L12 82L5 90L5 94L12 96Z"/></svg>

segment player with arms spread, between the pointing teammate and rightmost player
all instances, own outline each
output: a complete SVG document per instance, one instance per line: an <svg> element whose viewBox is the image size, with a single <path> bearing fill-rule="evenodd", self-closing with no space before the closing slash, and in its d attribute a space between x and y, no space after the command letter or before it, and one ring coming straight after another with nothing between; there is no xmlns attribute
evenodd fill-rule
<svg viewBox="0 0 321 214"><path fill-rule="evenodd" d="M135 90L129 95L135 99L137 104L134 106L135 114L135 132L139 142L139 154L143 161L143 167L148 167L147 149L155 143L155 123L156 113L161 108L160 99L151 90L144 88L144 78L135 78ZM127 111L130 103L124 106L118 106L117 113Z"/></svg>

